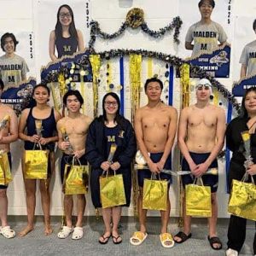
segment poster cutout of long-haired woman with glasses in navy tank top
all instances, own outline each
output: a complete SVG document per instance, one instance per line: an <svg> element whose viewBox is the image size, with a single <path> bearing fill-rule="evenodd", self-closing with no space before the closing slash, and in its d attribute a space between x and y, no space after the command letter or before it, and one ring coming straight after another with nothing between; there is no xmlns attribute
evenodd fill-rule
<svg viewBox="0 0 256 256"><path fill-rule="evenodd" d="M55 48L58 57L55 55ZM63 4L58 9L55 30L49 34L49 57L56 61L63 55L73 55L77 49L84 50L83 34L76 29L73 10L69 5Z"/></svg>

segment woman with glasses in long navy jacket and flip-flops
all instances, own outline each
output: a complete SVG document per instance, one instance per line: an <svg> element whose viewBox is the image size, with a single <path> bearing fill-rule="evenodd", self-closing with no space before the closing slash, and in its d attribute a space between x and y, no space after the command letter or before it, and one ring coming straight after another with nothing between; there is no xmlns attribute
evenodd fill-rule
<svg viewBox="0 0 256 256"><path fill-rule="evenodd" d="M86 138L85 154L91 165L90 189L94 207L102 207L100 199L99 178L103 171L121 173L125 185L125 207L131 201L131 161L136 153L136 138L129 120L119 114L119 96L109 92L102 99L103 114L90 124ZM113 159L109 160L111 145L117 145ZM110 236L113 243L122 241L118 233L118 224L121 216L121 207L102 209L105 232L99 242L106 244ZM113 227L111 229L111 222Z"/></svg>

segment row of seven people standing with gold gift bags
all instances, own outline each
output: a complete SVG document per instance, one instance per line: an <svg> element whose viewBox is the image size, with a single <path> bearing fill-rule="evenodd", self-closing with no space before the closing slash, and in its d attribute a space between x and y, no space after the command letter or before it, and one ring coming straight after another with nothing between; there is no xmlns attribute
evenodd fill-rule
<svg viewBox="0 0 256 256"><path fill-rule="evenodd" d="M9 114L10 121L0 131L0 149L8 152L11 165L9 144L18 137L23 140L24 149L37 150L38 144L49 151L48 176L46 180L40 180L42 207L44 211L44 233L50 235L50 196L49 182L55 172L55 142L63 152L61 157L61 182L63 183L66 164L71 164L73 159L79 160L82 165L90 164L90 194L94 207L102 207L99 178L102 172L117 172L122 174L125 186L125 207L130 206L131 201L131 163L136 154L137 147L141 151L148 169L138 170L137 179L139 186L138 212L139 230L131 236L132 245L140 245L147 238L147 210L143 209L143 182L152 174L159 175L160 179L168 181L168 188L172 184L172 176L161 172L163 169L172 169L172 147L176 137L177 143L183 154L182 170L191 174L182 177L183 186L193 183L195 177L202 177L203 183L211 187L212 193L212 217L208 219L208 241L213 249L221 249L222 242L217 236L216 224L218 217L218 204L216 191L218 189L218 176L204 175L209 168L218 167L217 155L224 145L226 132L227 147L233 152L230 161L229 181L241 179L245 172L256 174L256 165L252 163L244 167L241 131L249 130L252 134L251 154L253 162L256 162L254 133L256 128L256 89L248 89L242 100L242 114L233 119L226 129L224 109L210 103L212 84L208 79L201 79L195 87L196 102L188 108L183 108L180 113L177 128L177 110L167 106L160 100L163 84L160 79L148 79L144 85L148 96L148 104L137 109L134 121L134 130L128 119L120 114L119 96L108 92L102 99L102 115L92 120L80 113L84 103L78 90L68 90L63 97L63 104L67 108L67 116L61 118L61 114L54 108L50 108L49 88L44 84L34 87L32 97L35 102L33 108L26 108L20 116L18 125L14 111L0 103L0 119ZM1 81L0 92L3 91ZM36 120L42 120L42 133L38 135ZM68 140L63 137L63 129ZM108 155L111 145L117 145L111 161ZM24 159L22 159L24 183L26 189L27 225L21 230L19 236L26 236L34 228L34 211L36 205L36 179L26 179ZM135 185L135 184L134 184ZM15 236L7 223L7 186L0 187L0 218L2 222L0 233L11 238ZM184 202L184 201L183 201ZM160 211L161 229L160 243L163 247L173 247L174 243L182 243L188 240L191 234L191 216L186 214L183 203L183 231L172 237L168 231L170 218L170 200L167 196L166 211ZM73 239L83 237L83 217L85 208L85 196L77 195L77 221L73 225L73 196L64 195L64 212L66 224L58 233L59 238L66 238L72 234ZM122 207L108 207L102 209L102 217L105 225L101 244L106 244L112 237L113 243L122 241L119 236L119 220ZM74 227L73 227L74 226ZM237 255L241 250L246 234L246 219L231 215L228 231L227 255ZM256 236L253 250L256 253ZM235 252L235 253L234 253ZM233 253L233 254L232 254Z"/></svg>

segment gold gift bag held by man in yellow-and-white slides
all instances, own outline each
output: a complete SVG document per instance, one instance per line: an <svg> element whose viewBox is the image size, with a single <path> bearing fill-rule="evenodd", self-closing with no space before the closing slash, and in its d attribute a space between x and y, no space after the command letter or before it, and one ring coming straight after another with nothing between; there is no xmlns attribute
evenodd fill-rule
<svg viewBox="0 0 256 256"><path fill-rule="evenodd" d="M160 178L160 177L159 177ZM168 182L166 180L144 179L143 209L166 211Z"/></svg>

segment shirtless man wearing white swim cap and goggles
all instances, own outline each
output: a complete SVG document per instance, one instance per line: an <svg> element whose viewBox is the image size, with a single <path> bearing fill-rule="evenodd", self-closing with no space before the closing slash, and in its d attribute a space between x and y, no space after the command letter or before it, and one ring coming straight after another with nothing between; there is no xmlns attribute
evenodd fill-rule
<svg viewBox="0 0 256 256"><path fill-rule="evenodd" d="M210 104L212 84L208 79L201 79L195 87L197 102L181 112L177 139L183 154L182 170L191 171L192 175L183 176L183 186L193 183L195 177L201 177L208 168L218 167L217 155L224 145L225 114L224 109ZM202 177L205 185L211 186L212 218L208 218L208 240L213 249L222 247L216 232L218 205L216 191L217 175ZM184 199L185 201L185 199ZM183 232L174 237L177 243L182 243L191 237L191 216L186 215L183 201Z"/></svg>

